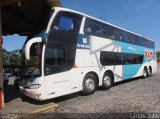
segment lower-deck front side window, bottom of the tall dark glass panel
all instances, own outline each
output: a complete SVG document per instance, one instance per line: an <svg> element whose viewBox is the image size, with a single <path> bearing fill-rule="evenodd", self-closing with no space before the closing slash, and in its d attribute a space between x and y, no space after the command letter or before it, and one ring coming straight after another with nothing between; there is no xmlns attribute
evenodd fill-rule
<svg viewBox="0 0 160 119"><path fill-rule="evenodd" d="M45 75L70 70L75 61L75 50L65 45L49 43L45 53Z"/></svg>

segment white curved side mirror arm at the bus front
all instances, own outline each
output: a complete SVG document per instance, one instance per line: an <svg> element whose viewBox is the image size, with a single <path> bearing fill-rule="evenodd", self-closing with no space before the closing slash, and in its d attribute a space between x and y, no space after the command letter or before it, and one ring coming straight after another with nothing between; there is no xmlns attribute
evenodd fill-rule
<svg viewBox="0 0 160 119"><path fill-rule="evenodd" d="M43 42L43 39L40 38L40 37L37 37L37 38L32 38L31 40L29 40L27 43L26 43L26 46L25 46L25 58L27 60L30 60L30 50L31 50L31 46L34 44L34 43L40 43L40 42Z"/></svg>

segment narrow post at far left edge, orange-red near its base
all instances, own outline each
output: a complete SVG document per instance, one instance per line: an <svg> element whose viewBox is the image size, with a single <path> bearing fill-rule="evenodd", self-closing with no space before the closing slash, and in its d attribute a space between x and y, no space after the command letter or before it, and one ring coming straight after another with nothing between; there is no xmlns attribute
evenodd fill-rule
<svg viewBox="0 0 160 119"><path fill-rule="evenodd" d="M2 7L0 6L0 109L4 107L3 91L3 61L2 61Z"/></svg>

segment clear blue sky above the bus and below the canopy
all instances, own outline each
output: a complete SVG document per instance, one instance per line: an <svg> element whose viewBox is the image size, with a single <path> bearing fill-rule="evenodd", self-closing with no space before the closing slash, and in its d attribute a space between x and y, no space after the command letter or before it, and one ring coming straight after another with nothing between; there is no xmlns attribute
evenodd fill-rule
<svg viewBox="0 0 160 119"><path fill-rule="evenodd" d="M160 51L160 0L61 0L73 9L155 41ZM20 49L26 37L4 36L3 48Z"/></svg>

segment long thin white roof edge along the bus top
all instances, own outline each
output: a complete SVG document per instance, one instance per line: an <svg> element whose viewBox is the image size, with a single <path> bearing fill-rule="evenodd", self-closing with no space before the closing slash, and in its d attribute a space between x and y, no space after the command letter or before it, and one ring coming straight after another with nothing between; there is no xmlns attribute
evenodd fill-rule
<svg viewBox="0 0 160 119"><path fill-rule="evenodd" d="M103 20L100 20L100 19L98 19L98 18L92 17L92 16L90 16L90 15L87 15L87 14L84 14L84 13L81 13L81 12L78 12L78 11L75 11L75 10L71 10L71 9L68 9L68 8L62 8L62 7L53 7L52 9L57 9L57 10L62 10L62 11L73 12L73 13L76 13L76 14L79 14L79 15L82 15L82 16L85 16L85 17L88 17L88 18L97 20L97 21L99 21L99 22L108 24L108 25L110 25L110 26L116 27L116 28L118 28L118 29L124 30L124 31L126 31L126 32L132 33L132 34L134 34L134 35L143 37L143 38L148 39L148 40L150 40L150 41L153 41L153 40L151 40L150 38L146 38L146 37L144 37L144 36L142 36L142 35L139 35L139 34L137 34L137 33L132 32L132 31L126 30L126 29L124 29L124 28L118 27L118 26L113 25L113 24L111 24L111 23L105 22L105 21L103 21Z"/></svg>

